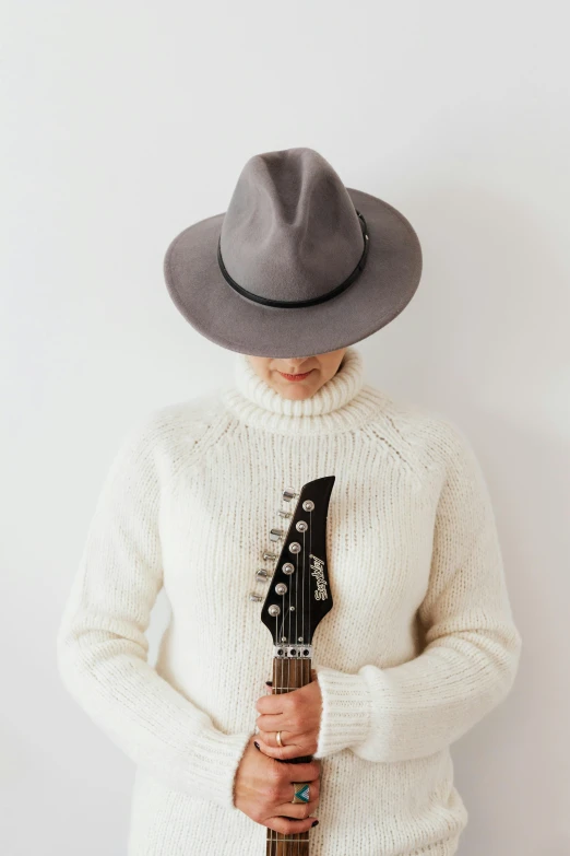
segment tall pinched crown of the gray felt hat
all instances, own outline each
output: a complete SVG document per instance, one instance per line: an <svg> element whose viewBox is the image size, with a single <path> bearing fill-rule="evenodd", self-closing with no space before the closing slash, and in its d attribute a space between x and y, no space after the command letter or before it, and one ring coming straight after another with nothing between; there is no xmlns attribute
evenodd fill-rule
<svg viewBox="0 0 570 856"><path fill-rule="evenodd" d="M253 155L237 180L219 236L223 263L265 300L322 297L364 250L360 221L331 164L313 149Z"/></svg>

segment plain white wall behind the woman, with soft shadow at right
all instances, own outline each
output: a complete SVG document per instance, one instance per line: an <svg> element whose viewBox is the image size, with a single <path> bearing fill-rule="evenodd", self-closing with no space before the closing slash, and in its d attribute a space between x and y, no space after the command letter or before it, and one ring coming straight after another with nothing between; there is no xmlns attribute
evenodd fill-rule
<svg viewBox="0 0 570 856"><path fill-rule="evenodd" d="M415 226L423 280L360 343L368 380L456 420L496 505L525 649L509 699L453 748L460 856L569 852L565 13L2 4L3 856L126 852L133 766L60 685L55 635L124 432L227 379L230 353L167 296L164 251L226 210L249 156L292 145Z"/></svg>

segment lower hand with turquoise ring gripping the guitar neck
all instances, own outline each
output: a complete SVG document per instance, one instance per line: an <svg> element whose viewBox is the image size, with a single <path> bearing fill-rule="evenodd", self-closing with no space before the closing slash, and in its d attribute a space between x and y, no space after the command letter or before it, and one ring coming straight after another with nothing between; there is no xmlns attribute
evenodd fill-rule
<svg viewBox="0 0 570 856"><path fill-rule="evenodd" d="M256 749L256 739L257 735L252 735L236 772L235 807L275 832L307 832L316 822L309 814L319 802L320 761L299 764L274 761ZM294 782L309 782L309 802L290 801Z"/></svg>

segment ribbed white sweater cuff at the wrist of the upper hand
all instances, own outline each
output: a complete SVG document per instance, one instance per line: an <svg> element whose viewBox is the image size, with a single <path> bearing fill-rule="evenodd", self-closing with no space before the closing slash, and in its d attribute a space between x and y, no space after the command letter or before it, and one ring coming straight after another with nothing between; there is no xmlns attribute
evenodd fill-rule
<svg viewBox="0 0 570 856"><path fill-rule="evenodd" d="M372 700L360 675L316 667L322 695L321 724L313 758L363 743L372 725Z"/></svg>

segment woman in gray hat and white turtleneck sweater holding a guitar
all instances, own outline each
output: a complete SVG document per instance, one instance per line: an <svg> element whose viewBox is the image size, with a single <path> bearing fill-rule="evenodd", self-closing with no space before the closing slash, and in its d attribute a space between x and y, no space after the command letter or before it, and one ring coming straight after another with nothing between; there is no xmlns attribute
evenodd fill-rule
<svg viewBox="0 0 570 856"><path fill-rule="evenodd" d="M367 385L354 347L420 270L408 221L311 149L251 157L225 214L167 250L173 300L235 375L129 433L58 638L69 691L138 765L130 856L261 856L309 829L310 856L456 853L449 748L508 694L521 637L471 444ZM261 556L283 489L323 476L334 608L313 680L270 695Z"/></svg>

